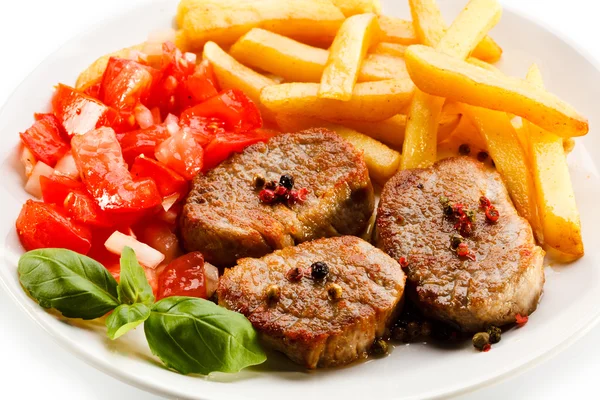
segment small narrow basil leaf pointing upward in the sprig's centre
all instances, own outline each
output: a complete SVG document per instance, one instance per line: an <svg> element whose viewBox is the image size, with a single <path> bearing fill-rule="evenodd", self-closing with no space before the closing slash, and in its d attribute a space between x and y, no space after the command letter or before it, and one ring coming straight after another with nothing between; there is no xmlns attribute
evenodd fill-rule
<svg viewBox="0 0 600 400"><path fill-rule="evenodd" d="M121 304L154 303L152 287L131 247L125 247L121 253L121 277L117 292Z"/></svg>

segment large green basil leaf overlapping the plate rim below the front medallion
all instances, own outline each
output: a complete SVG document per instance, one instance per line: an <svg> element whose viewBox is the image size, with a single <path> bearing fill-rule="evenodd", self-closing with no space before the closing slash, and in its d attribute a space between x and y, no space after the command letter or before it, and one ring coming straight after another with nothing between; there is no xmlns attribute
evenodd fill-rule
<svg viewBox="0 0 600 400"><path fill-rule="evenodd" d="M144 332L152 353L183 374L238 372L267 359L246 317L203 299L159 301Z"/></svg>

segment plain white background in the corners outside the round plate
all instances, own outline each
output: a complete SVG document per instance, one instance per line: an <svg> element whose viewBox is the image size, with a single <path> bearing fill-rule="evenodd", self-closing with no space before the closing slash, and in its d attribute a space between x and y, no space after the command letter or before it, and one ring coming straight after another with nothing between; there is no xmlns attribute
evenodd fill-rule
<svg viewBox="0 0 600 400"><path fill-rule="evenodd" d="M600 24L595 0L504 0L502 3L551 25L555 31L579 43L596 61L600 60ZM151 7L152 1L3 0L0 5L0 104L62 43L90 25L139 4ZM159 399L96 371L63 350L2 289L0 316L0 399ZM460 399L598 398L598 343L600 327L554 359ZM265 388L265 397L268 397L268 388Z"/></svg>

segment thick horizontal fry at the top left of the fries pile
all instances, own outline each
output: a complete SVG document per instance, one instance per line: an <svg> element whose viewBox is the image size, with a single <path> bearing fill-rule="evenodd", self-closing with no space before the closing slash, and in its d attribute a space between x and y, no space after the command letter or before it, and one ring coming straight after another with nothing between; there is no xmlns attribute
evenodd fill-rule
<svg viewBox="0 0 600 400"><path fill-rule="evenodd" d="M268 28L306 43L329 44L344 22L330 0L209 0L190 8L180 27L190 49L234 43L252 28Z"/></svg>

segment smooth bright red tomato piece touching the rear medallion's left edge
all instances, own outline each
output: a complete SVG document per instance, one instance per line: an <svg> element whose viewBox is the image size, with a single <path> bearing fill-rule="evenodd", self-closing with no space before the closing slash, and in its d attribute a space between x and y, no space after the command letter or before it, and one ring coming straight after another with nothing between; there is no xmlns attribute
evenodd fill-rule
<svg viewBox="0 0 600 400"><path fill-rule="evenodd" d="M131 167L131 174L136 179L154 179L162 197L179 193L181 198L187 194L189 189L187 181L181 175L158 161L144 157L144 155L135 159Z"/></svg>

